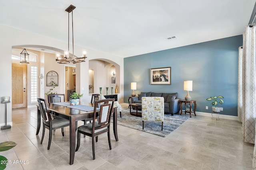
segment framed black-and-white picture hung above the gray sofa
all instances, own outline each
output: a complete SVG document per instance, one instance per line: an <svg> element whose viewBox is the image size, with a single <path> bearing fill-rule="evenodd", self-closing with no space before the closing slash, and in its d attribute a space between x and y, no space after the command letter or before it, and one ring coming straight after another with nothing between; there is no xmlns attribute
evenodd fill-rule
<svg viewBox="0 0 256 170"><path fill-rule="evenodd" d="M171 84L171 67L150 68L150 84Z"/></svg>

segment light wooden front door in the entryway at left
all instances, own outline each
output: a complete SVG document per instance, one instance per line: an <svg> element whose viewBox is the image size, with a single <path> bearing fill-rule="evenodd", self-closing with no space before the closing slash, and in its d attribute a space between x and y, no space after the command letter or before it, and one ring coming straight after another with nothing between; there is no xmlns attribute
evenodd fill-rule
<svg viewBox="0 0 256 170"><path fill-rule="evenodd" d="M27 107L27 65L12 64L12 109Z"/></svg>

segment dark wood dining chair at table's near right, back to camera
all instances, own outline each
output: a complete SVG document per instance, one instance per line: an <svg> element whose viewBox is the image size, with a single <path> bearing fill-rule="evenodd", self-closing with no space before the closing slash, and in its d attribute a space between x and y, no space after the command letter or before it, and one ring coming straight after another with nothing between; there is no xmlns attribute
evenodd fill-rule
<svg viewBox="0 0 256 170"><path fill-rule="evenodd" d="M100 104L100 105L99 105ZM97 110L100 106L100 110ZM104 99L98 100L94 102L94 113L92 123L88 123L86 125L82 125L77 128L77 145L76 151L78 151L80 147L80 134L84 134L92 137L92 155L93 159L95 159L95 147L94 147L94 137L96 142L98 142L98 135L103 133L108 133L108 145L111 150L111 142L110 142L110 120L111 113L114 106L114 99ZM98 121L96 121L96 117L99 117Z"/></svg>

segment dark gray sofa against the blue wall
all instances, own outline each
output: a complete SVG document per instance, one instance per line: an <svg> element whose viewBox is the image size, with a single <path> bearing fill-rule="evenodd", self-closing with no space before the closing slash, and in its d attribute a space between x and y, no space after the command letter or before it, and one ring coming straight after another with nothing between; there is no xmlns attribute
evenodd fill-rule
<svg viewBox="0 0 256 170"><path fill-rule="evenodd" d="M164 97L164 113L171 113L174 115L180 111L180 99L178 93L154 93L141 92L138 97L132 97L132 103L141 104L142 97ZM132 107L134 109L134 107Z"/></svg>

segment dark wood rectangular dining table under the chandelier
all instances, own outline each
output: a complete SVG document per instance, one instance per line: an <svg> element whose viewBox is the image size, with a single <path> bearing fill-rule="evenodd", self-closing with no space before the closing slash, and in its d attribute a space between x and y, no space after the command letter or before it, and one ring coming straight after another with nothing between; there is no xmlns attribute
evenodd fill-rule
<svg viewBox="0 0 256 170"><path fill-rule="evenodd" d="M94 108L94 104L92 103L86 103L86 102L80 102L79 107L72 107L68 106L69 102L61 102L64 104L58 104L58 103L50 103L48 105L48 108L50 111L54 111L57 113L59 116L69 119L70 121L70 133L69 133L69 138L70 138L70 160L69 164L72 165L74 163L74 156L75 156L75 149L76 149L76 122L80 120L85 120L92 118L94 115L94 110L92 109L86 109L87 111L84 111L83 107L86 108ZM38 107L38 106L37 106ZM98 113L98 112L97 112ZM118 141L118 135L117 135L117 107L113 107L112 110L113 113L113 131L114 131L114 137L116 141ZM96 115L98 116L98 115ZM40 109L37 109L37 128L36 128L36 135L38 135L39 130L41 126L41 113Z"/></svg>

